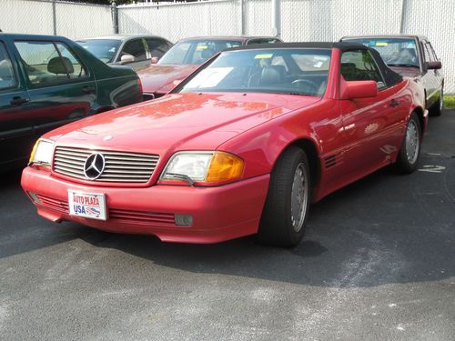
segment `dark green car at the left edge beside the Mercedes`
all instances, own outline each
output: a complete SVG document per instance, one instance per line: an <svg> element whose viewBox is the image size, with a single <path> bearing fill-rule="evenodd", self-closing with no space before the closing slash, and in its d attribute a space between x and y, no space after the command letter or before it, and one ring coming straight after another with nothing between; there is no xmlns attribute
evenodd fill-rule
<svg viewBox="0 0 455 341"><path fill-rule="evenodd" d="M25 165L38 136L142 99L128 67L62 36L0 34L0 171Z"/></svg>

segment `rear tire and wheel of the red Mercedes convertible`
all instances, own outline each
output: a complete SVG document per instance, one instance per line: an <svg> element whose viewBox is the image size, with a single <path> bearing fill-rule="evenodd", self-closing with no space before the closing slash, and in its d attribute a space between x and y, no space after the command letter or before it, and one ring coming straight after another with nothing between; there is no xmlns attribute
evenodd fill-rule
<svg viewBox="0 0 455 341"><path fill-rule="evenodd" d="M396 165L400 173L410 174L416 170L419 164L421 136L419 116L412 113L397 159Z"/></svg>

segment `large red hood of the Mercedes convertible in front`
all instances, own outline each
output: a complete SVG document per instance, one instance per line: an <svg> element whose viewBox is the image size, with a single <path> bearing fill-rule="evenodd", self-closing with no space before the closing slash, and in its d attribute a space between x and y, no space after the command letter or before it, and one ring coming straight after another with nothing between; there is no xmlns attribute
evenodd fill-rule
<svg viewBox="0 0 455 341"><path fill-rule="evenodd" d="M319 97L275 94L172 94L64 125L45 137L56 145L166 155L215 150L256 125Z"/></svg>

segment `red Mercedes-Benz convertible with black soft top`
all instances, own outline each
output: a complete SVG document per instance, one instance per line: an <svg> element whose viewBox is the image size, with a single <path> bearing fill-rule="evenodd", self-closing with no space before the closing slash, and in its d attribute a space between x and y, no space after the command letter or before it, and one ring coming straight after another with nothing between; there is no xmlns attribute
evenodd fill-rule
<svg viewBox="0 0 455 341"><path fill-rule="evenodd" d="M22 186L55 222L293 246L311 201L385 165L415 170L424 101L364 45L237 47L156 101L44 135Z"/></svg>

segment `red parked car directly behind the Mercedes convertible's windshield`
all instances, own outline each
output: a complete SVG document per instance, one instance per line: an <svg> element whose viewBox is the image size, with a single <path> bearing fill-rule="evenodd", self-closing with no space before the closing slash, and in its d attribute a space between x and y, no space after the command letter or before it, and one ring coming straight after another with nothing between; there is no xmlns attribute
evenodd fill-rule
<svg viewBox="0 0 455 341"><path fill-rule="evenodd" d="M144 86L144 99L166 95L187 75L219 51L240 45L281 42L273 36L202 36L179 40L156 65L137 70Z"/></svg>

